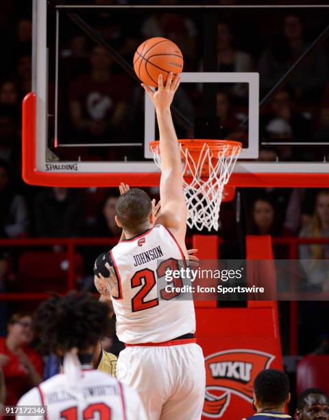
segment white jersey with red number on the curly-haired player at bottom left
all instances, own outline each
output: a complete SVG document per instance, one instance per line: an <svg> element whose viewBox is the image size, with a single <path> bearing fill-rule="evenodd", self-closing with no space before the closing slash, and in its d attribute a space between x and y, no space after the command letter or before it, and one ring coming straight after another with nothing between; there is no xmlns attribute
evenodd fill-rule
<svg viewBox="0 0 329 420"><path fill-rule="evenodd" d="M29 416L35 420L147 420L140 397L132 388L107 373L81 371L79 393L68 384L67 375L55 375L32 388L18 406L47 406L47 415ZM26 420L26 415L16 416Z"/></svg>

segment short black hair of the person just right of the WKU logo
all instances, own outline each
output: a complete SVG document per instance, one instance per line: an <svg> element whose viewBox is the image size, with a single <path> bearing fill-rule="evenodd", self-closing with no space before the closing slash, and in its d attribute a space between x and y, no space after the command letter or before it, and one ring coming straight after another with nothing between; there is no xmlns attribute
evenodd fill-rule
<svg viewBox="0 0 329 420"><path fill-rule="evenodd" d="M264 369L258 373L254 382L254 393L262 404L283 404L289 388L288 376L278 369Z"/></svg>

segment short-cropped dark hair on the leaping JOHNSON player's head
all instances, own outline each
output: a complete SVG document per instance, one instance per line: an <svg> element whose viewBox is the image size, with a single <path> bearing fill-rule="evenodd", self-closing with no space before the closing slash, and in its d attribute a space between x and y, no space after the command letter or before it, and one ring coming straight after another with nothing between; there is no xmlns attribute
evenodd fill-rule
<svg viewBox="0 0 329 420"><path fill-rule="evenodd" d="M116 210L122 226L139 233L138 229L147 222L151 213L151 198L143 189L132 188L119 197Z"/></svg>

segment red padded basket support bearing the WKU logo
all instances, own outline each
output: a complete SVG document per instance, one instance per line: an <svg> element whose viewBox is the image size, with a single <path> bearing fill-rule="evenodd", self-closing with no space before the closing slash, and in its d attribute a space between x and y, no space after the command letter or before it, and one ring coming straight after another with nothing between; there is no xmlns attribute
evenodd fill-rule
<svg viewBox="0 0 329 420"><path fill-rule="evenodd" d="M194 244L194 243L193 243ZM208 248L204 242L204 249ZM249 237L247 258L273 264L271 237ZM266 268L266 267L264 267ZM262 268L254 273L261 278ZM275 285L275 276L271 278ZM252 416L252 392L263 369L282 369L278 308L273 301L248 301L247 307L196 307L197 342L206 362L203 420Z"/></svg>

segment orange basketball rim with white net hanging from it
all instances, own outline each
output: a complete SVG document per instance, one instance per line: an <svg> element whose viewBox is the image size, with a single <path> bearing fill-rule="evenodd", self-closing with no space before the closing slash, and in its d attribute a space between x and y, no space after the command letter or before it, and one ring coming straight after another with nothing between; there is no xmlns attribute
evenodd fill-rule
<svg viewBox="0 0 329 420"><path fill-rule="evenodd" d="M223 189L230 179L241 143L231 140L179 140L182 178L187 205L187 225L199 231L218 230ZM158 141L150 143L154 161L161 168Z"/></svg>

